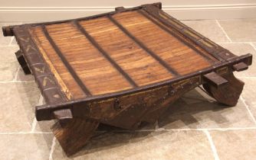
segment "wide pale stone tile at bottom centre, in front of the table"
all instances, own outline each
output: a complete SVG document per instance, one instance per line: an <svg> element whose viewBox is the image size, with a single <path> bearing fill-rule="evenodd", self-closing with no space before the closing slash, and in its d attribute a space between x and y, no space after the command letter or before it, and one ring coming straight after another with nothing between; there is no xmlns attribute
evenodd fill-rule
<svg viewBox="0 0 256 160"><path fill-rule="evenodd" d="M88 141L72 159L213 159L201 131L105 133ZM53 159L68 159L56 143Z"/></svg>

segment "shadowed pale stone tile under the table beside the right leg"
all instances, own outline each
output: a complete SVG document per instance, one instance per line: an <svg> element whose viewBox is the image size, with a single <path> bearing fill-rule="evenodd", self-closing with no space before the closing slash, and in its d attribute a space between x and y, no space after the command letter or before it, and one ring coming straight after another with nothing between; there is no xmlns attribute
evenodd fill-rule
<svg viewBox="0 0 256 160"><path fill-rule="evenodd" d="M172 104L159 120L159 127L181 128L231 128L255 126L245 104L238 101L235 107L227 107L202 97L192 90Z"/></svg>

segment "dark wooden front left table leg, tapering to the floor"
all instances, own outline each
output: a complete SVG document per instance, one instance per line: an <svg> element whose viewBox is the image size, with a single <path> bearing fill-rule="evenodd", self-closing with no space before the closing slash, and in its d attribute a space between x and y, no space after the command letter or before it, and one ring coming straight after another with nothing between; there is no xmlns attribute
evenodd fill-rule
<svg viewBox="0 0 256 160"><path fill-rule="evenodd" d="M57 123L51 130L67 156L79 151L93 135L99 123L94 120L72 119Z"/></svg>

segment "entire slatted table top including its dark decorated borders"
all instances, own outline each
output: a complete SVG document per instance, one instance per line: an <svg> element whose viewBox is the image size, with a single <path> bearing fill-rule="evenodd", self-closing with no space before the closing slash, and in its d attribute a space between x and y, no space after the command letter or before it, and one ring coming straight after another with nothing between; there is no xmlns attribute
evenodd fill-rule
<svg viewBox="0 0 256 160"><path fill-rule="evenodd" d="M46 101L118 96L234 62L250 65L158 5L13 27Z"/></svg>

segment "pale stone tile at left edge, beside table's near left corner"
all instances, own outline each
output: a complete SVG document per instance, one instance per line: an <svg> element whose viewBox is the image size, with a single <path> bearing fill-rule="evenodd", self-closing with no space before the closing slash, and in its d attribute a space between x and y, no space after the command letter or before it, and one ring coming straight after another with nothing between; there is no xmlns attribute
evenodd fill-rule
<svg viewBox="0 0 256 160"><path fill-rule="evenodd" d="M40 91L34 82L0 83L0 133L28 132Z"/></svg>

